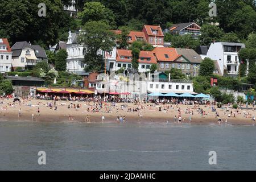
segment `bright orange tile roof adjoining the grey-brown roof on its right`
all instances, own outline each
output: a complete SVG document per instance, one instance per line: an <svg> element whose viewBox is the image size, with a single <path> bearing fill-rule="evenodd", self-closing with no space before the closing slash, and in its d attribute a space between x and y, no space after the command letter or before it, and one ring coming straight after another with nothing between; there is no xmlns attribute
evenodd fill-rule
<svg viewBox="0 0 256 182"><path fill-rule="evenodd" d="M158 61L172 62L172 61L175 61L180 56L182 56L182 55L179 55L176 49L172 47L156 47L152 52L155 54L156 59ZM168 55L168 57L166 57L165 55Z"/></svg>

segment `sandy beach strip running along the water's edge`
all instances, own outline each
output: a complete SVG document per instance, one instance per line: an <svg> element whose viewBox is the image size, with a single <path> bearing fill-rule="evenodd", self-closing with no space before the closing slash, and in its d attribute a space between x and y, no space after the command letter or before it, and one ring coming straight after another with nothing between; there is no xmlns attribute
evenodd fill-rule
<svg viewBox="0 0 256 182"><path fill-rule="evenodd" d="M134 104L125 104L127 107L121 109L121 105L124 103L117 103L115 106L110 106L111 104L108 103L106 106L104 105L99 112L93 112L91 109L94 107L93 102L90 102L88 105L87 102L72 102L72 101L57 101L55 107L48 107L47 105L51 103L53 105L53 101L46 101L46 100L21 100L21 103L13 104L13 99L11 100L0 100L2 102L0 104L0 121L31 121L31 122L85 122L86 115L90 115L90 122L100 123L102 122L101 117L105 117L105 123L118 123L117 117L126 118L126 123L174 123L175 115L179 115L179 108L181 110L181 117L182 123L189 123L189 117L191 117L192 124L210 124L218 123L218 117L216 117L216 112L211 111L210 105L200 105L199 107L205 111L205 115L201 115L197 112L196 109L193 109L193 105L177 105L174 106L172 104L165 104L165 105L154 105L152 103L142 104L143 109L141 109L141 113L139 115L138 112L127 112L128 108L136 108L138 105ZM68 108L70 104L79 104L82 106L81 108ZM151 105L151 106L150 106ZM159 111L160 107L167 107L170 106L170 109ZM174 106L171 107L171 106ZM40 115L38 115L38 107L40 110ZM105 112L105 107L111 108L109 113ZM141 107L141 106L140 106ZM217 112L220 114L220 118L222 119L222 123L227 123L230 125L252 125L254 121L252 121L250 116L256 115L256 110L251 109L230 109L232 106L222 106L224 108L219 109L216 106ZM226 107L229 107L226 109ZM88 111L88 108L90 111ZM190 108L193 110L192 114L186 114L186 110ZM20 117L19 115L20 109ZM228 110L228 111L227 111ZM232 110L233 113L236 114L236 118L228 117L228 114ZM248 114L249 117L246 118L244 113ZM32 114L34 114L34 118L32 118ZM69 118L72 117L72 120Z"/></svg>

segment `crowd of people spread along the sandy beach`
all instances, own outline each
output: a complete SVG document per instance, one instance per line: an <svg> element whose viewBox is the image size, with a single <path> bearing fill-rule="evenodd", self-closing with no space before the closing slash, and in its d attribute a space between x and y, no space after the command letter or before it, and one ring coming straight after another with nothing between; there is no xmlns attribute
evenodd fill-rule
<svg viewBox="0 0 256 182"><path fill-rule="evenodd" d="M250 110L241 110L241 109L233 109L232 105L226 105L226 108L221 108L224 110L224 113L220 113L220 111L216 109L215 101L207 101L207 100L187 100L177 99L177 98L162 98L156 99L154 101L148 100L144 98L142 101L136 98L119 97L119 96L95 96L90 97L86 95L83 96L59 96L54 94L37 94L36 95L36 104L31 105L30 101L34 100L32 97L22 98L20 100L16 100L15 102L11 102L13 98L0 98L0 110L7 110L10 107L19 107L20 105L34 106L37 108L36 117L40 116L40 107L47 107L48 109L52 109L57 111L59 107L66 107L69 111L68 121L74 121L75 116L72 114L73 110L75 111L85 111L86 115L84 117L84 122L91 122L91 115L93 113L101 113L101 121L105 122L105 114L115 114L117 115L117 122L125 123L126 117L123 113L137 113L138 118L142 118L143 115L147 113L147 111L154 112L156 114L170 114L170 117L174 115L174 122L191 122L192 118L195 115L201 118L208 117L209 112L212 111L215 113L215 118L217 122L220 124L222 122L222 118L225 118L225 121L229 118L236 118L237 115L243 114L243 118L250 118L255 121L255 117ZM43 100L47 100L43 101ZM4 104L4 101L8 101ZM65 101L65 102L64 102ZM181 105L183 105L183 109L181 109ZM254 109L255 101L252 103ZM248 104L246 104L246 108ZM184 109L185 108L185 109ZM209 109L207 109L209 108ZM210 110L210 111L209 111ZM185 115L185 116L184 116ZM22 111L19 109L18 117L22 116ZM35 115L32 114L32 120L34 120ZM221 118L222 117L222 118ZM167 121L169 122L169 120Z"/></svg>

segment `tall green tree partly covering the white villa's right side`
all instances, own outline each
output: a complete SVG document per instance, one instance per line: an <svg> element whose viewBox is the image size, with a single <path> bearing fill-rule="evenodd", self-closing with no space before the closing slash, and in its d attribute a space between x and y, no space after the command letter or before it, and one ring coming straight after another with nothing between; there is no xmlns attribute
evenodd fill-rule
<svg viewBox="0 0 256 182"><path fill-rule="evenodd" d="M115 46L115 36L110 31L110 26L106 22L91 21L85 23L84 32L79 36L79 42L86 45L85 71L101 71L104 69L104 60L98 51L112 51Z"/></svg>

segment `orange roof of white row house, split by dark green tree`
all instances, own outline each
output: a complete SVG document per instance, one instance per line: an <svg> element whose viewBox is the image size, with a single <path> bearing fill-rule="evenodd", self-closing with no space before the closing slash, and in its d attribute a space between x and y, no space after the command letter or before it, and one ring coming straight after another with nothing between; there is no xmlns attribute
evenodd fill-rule
<svg viewBox="0 0 256 182"><path fill-rule="evenodd" d="M125 56L125 57L131 57L131 59L121 59L121 56ZM117 62L127 62L127 63L131 63L132 61L132 54L131 54L131 50L125 50L125 49L117 49ZM153 54L152 51L141 51L139 53L139 63L148 63L148 64L156 64L156 58ZM150 57L150 61L147 60L141 60L141 58L149 58Z"/></svg>

